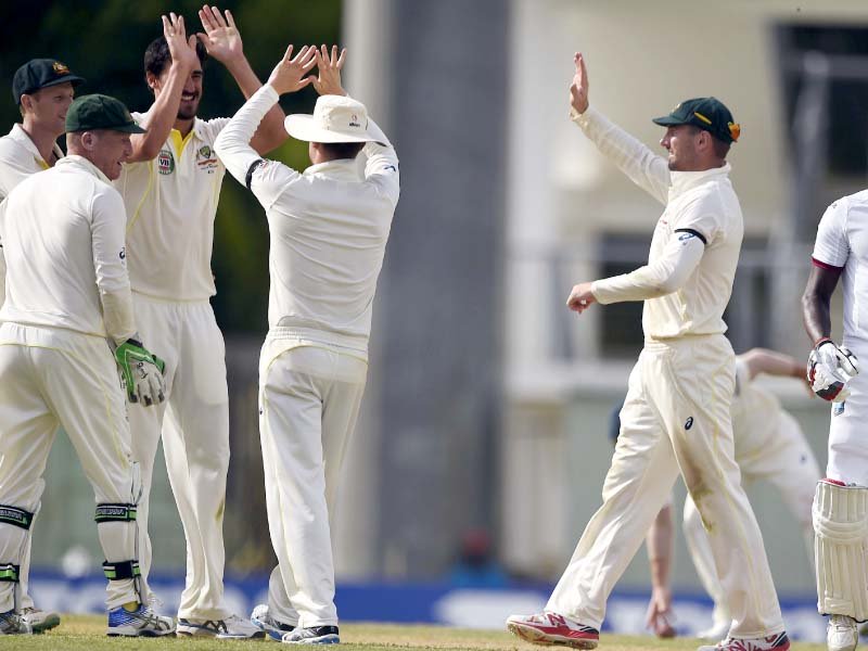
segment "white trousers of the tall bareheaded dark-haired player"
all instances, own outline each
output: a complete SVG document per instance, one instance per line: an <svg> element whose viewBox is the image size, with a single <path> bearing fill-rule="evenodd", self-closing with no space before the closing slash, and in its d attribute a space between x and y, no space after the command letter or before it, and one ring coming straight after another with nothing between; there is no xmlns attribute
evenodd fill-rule
<svg viewBox="0 0 868 651"><path fill-rule="evenodd" d="M146 533L161 432L171 490L187 538L187 580L178 617L224 620L224 508L229 469L229 392L224 337L207 301L169 303L133 292L144 346L166 362L166 401L130 405L133 456L142 465L141 567L152 564Z"/></svg>

